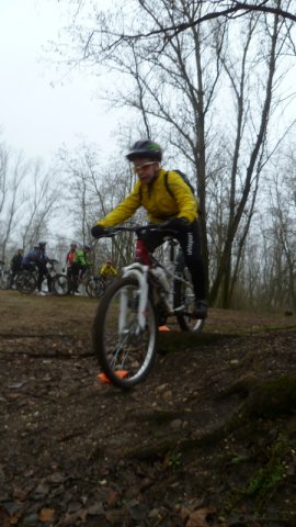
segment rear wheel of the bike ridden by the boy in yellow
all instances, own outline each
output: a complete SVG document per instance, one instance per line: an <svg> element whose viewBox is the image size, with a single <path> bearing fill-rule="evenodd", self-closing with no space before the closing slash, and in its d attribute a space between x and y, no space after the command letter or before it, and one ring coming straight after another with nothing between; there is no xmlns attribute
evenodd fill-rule
<svg viewBox="0 0 296 527"><path fill-rule="evenodd" d="M178 324L182 332L201 333L204 327L205 321L202 318L194 318L190 314L195 304L195 295L191 287L190 272L186 268L183 268L182 270L180 270L179 273L183 280L186 280L187 285L186 283L179 280L174 281L174 305L185 306L185 314L181 312L177 315Z"/></svg>

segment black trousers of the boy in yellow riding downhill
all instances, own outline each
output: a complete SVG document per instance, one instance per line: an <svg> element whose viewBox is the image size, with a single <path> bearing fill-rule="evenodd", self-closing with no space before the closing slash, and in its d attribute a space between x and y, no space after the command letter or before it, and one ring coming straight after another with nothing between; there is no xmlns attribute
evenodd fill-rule
<svg viewBox="0 0 296 527"><path fill-rule="evenodd" d="M149 251L153 251L161 245L168 234L147 232L144 235L145 244ZM201 254L201 236L197 220L191 223L190 227L179 227L174 236L178 239L184 256L185 265L192 278L192 284L196 300L205 300L205 272Z"/></svg>

